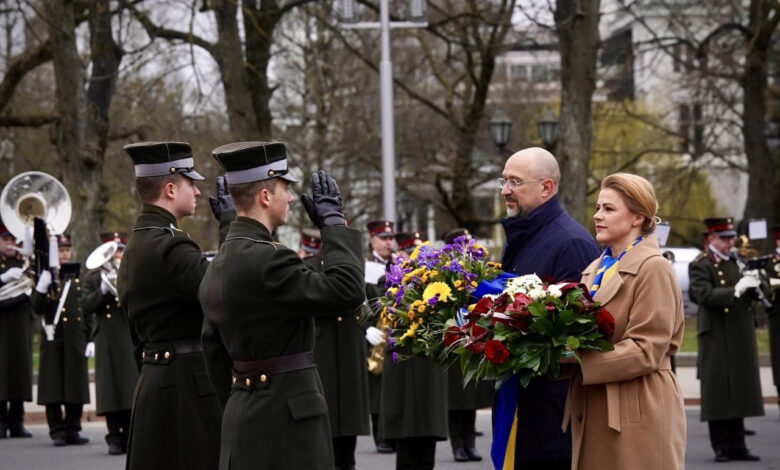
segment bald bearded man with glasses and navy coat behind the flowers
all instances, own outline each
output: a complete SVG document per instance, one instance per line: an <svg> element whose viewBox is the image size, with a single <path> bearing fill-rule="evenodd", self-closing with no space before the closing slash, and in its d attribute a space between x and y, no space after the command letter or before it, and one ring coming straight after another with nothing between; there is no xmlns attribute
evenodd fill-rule
<svg viewBox="0 0 780 470"><path fill-rule="evenodd" d="M542 148L521 150L507 160L499 179L507 212L501 220L504 271L579 282L582 270L599 256L593 237L559 204L560 179L558 161ZM491 456L496 468L512 460L514 468L523 470L570 468L571 435L561 432L568 386L568 380L547 377L533 379L525 389L516 379L504 383L494 401ZM515 407L515 452L506 455Z"/></svg>

